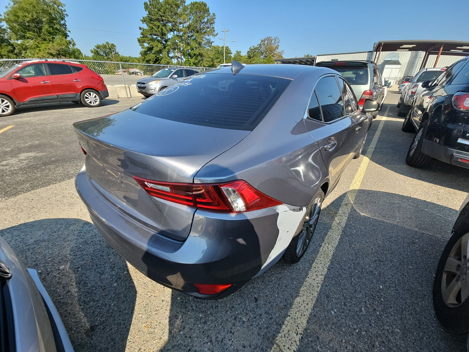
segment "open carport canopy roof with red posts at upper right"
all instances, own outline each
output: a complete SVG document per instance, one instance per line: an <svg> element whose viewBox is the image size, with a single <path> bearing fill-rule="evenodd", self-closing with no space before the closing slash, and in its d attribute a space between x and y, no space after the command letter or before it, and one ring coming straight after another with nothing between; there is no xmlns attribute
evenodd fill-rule
<svg viewBox="0 0 469 352"><path fill-rule="evenodd" d="M469 55L469 42L457 40L381 40L373 47L375 52L375 62L379 59L382 51L423 51L425 52L424 61L420 69L425 67L428 57L431 54L437 54L435 64L437 67L441 55Z"/></svg>

